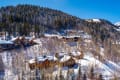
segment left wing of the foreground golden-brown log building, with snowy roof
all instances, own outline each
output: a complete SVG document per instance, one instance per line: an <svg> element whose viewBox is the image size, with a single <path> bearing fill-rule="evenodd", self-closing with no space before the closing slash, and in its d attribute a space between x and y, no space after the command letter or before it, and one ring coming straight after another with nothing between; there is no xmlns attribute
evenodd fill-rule
<svg viewBox="0 0 120 80"><path fill-rule="evenodd" d="M31 70L37 69L47 69L52 68L58 64L58 61L53 56L46 56L46 57L37 57L36 59L31 59L29 61L29 67Z"/></svg>

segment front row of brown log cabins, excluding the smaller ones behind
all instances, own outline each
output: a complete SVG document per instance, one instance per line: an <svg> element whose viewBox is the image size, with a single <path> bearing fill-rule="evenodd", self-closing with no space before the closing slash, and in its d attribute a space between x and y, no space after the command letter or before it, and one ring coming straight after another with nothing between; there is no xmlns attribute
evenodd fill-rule
<svg viewBox="0 0 120 80"><path fill-rule="evenodd" d="M69 56L65 55L66 57L58 59L49 59L49 58L42 58L41 60L31 60L29 62L29 67L31 70L33 69L48 69L48 68L54 68L55 66L59 67L73 67L76 62L75 60Z"/></svg>

